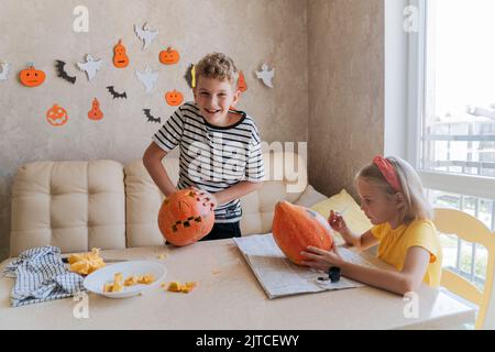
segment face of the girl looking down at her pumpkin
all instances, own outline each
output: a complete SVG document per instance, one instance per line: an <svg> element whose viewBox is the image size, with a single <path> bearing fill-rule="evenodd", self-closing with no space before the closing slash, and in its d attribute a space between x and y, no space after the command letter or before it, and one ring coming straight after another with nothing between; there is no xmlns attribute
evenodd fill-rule
<svg viewBox="0 0 495 352"><path fill-rule="evenodd" d="M363 178L358 179L356 188L361 198L361 209L373 224L396 223L402 207L398 194L388 195Z"/></svg>

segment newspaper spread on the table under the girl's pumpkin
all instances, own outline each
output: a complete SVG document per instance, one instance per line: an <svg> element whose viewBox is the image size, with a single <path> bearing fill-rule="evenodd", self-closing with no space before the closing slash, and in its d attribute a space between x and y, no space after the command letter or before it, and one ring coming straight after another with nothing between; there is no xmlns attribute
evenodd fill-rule
<svg viewBox="0 0 495 352"><path fill-rule="evenodd" d="M327 277L327 274L292 263L279 250L272 233L234 238L233 240L270 299L364 286L343 276L337 283L322 280L321 278ZM373 266L359 254L345 248L340 248L339 253L348 262Z"/></svg>

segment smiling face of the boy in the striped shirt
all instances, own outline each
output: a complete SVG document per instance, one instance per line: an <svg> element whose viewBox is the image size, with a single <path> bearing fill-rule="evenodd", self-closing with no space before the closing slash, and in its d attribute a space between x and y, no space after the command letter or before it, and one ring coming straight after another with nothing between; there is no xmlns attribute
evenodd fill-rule
<svg viewBox="0 0 495 352"><path fill-rule="evenodd" d="M232 124L229 108L238 102L240 91L231 82L200 76L193 91L195 101L208 123L218 127Z"/></svg>

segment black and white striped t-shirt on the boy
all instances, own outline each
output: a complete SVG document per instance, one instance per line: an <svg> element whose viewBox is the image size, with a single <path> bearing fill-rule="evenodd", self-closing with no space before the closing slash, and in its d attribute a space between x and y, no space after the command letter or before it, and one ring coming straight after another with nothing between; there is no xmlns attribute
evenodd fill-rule
<svg viewBox="0 0 495 352"><path fill-rule="evenodd" d="M155 133L153 141L165 152L180 148L177 188L196 186L211 194L242 180L264 178L260 133L252 118L242 111L230 127L208 123L195 102L178 108ZM239 199L218 205L216 222L237 222L242 209Z"/></svg>

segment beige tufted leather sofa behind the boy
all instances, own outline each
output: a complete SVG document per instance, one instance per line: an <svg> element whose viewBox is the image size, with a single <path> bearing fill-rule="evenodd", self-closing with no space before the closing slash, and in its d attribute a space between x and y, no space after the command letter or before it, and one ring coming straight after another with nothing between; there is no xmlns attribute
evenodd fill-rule
<svg viewBox="0 0 495 352"><path fill-rule="evenodd" d="M304 160L292 153L264 155L263 187L241 199L243 235L271 231L278 200L310 207L326 197L308 185ZM178 160L164 165L175 183ZM63 253L160 245L156 216L163 195L141 160L35 162L18 170L12 188L10 255L42 245Z"/></svg>

